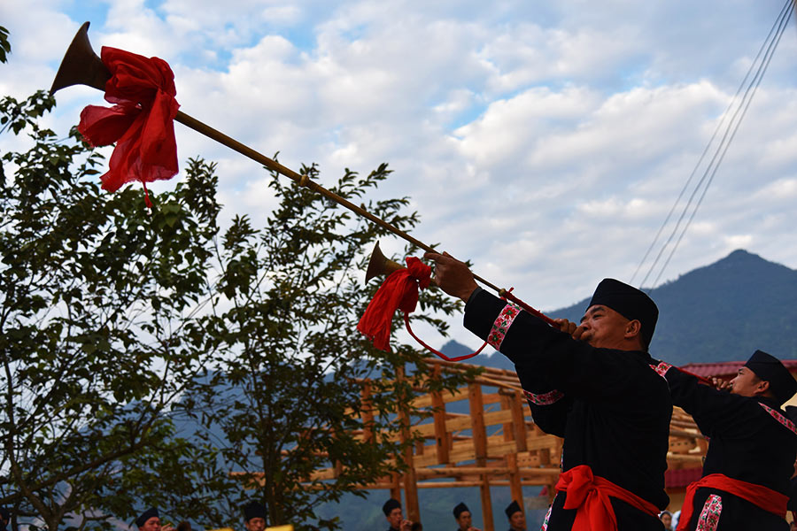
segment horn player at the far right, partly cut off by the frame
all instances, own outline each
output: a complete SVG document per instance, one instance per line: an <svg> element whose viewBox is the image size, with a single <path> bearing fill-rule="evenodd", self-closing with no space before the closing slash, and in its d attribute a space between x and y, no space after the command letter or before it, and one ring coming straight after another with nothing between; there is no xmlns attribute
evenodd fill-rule
<svg viewBox="0 0 797 531"><path fill-rule="evenodd" d="M673 403L709 440L703 477L686 489L678 531L788 529L784 516L797 458L797 427L780 409L797 392L788 369L756 350L730 389L714 389L669 364L660 367Z"/></svg>

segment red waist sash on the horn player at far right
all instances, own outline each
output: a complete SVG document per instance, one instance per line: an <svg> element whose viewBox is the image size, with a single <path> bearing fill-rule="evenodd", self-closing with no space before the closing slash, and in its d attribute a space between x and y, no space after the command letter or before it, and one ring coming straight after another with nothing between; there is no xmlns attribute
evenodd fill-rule
<svg viewBox="0 0 797 531"><path fill-rule="evenodd" d="M763 485L748 483L747 481L734 480L723 473L709 473L707 476L693 481L686 488L684 507L681 509L681 517L678 519L677 531L684 531L689 526L694 512L694 494L697 489L708 487L728 492L733 496L739 496L751 504L761 507L766 512L777 514L785 519L786 504L789 503L789 496L785 496L777 490L772 490Z"/></svg>

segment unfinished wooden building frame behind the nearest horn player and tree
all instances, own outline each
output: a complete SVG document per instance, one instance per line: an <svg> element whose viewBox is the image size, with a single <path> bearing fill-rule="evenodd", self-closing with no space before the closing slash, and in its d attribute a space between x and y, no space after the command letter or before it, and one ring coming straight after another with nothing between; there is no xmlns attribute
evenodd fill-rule
<svg viewBox="0 0 797 531"><path fill-rule="evenodd" d="M465 372L468 366L428 358L432 378L445 372ZM397 378L402 378L399 371ZM360 381L363 426L372 425L368 403L369 381ZM466 409L454 403L467 401ZM546 486L553 499L553 485L559 478L562 439L547 435L534 424L520 381L514 371L486 367L484 372L453 391L414 397L414 407L428 416L411 422L408 413L399 412L402 442L420 437L399 456L406 464L404 473L393 473L381 481L362 485L362 489L388 489L401 499L408 519L422 521L418 504L419 489L478 487L481 495L484 531L494 531L491 487L509 487L512 498L522 506L523 486ZM371 438L368 429L356 434ZM679 408L673 412L669 434L668 468L700 467L708 442L700 435L693 419ZM340 470L331 466L315 471L313 480L334 480ZM680 489L683 490L683 489Z"/></svg>

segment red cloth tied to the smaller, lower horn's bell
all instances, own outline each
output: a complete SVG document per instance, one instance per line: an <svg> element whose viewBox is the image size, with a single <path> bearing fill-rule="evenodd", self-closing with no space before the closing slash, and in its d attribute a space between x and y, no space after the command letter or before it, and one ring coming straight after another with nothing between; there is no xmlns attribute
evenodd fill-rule
<svg viewBox="0 0 797 531"><path fill-rule="evenodd" d="M418 304L418 288L429 288L431 267L414 257L406 258L406 269L386 278L362 314L357 329L379 350L391 350L391 323L396 310L412 313Z"/></svg>

